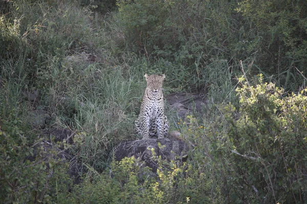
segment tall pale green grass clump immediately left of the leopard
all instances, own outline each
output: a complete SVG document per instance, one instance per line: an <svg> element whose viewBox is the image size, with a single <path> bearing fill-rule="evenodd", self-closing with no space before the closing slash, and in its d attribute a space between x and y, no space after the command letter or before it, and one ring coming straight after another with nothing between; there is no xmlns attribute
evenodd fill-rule
<svg viewBox="0 0 307 204"><path fill-rule="evenodd" d="M76 128L86 133L80 149L82 162L97 170L105 167L108 153L116 144L135 139L133 126L139 106L134 82L125 80L120 69L100 71L101 79L93 90L76 94L75 116Z"/></svg>

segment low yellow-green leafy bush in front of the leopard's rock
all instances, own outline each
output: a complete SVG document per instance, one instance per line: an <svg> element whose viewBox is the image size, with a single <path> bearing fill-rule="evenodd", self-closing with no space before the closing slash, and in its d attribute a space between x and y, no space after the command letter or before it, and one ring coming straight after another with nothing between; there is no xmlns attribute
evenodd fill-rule
<svg viewBox="0 0 307 204"><path fill-rule="evenodd" d="M57 202L220 203L215 192L211 192L205 171L200 173L191 165L177 166L174 161L153 159L159 164L158 174L135 158L112 162L110 169L101 174L90 168L83 182L67 196L59 194Z"/></svg>

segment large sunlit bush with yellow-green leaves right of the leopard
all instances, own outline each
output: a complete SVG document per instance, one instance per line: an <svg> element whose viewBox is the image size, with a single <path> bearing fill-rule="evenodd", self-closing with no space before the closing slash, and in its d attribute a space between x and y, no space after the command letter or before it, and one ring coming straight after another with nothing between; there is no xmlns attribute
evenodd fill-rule
<svg viewBox="0 0 307 204"><path fill-rule="evenodd" d="M226 168L230 202L303 203L307 90L283 96L283 89L262 82L260 75L255 86L243 82L236 91L238 119L228 105L217 126L223 131L218 135L209 131L216 142L214 154L223 158L221 168Z"/></svg>

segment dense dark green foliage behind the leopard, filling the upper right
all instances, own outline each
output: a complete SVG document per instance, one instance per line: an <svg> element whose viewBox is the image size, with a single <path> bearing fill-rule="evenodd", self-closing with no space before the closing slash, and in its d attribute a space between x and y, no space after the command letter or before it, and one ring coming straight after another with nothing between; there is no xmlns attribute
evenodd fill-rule
<svg viewBox="0 0 307 204"><path fill-rule="evenodd" d="M159 68L184 87L211 84L216 61L237 72L239 60L292 91L303 82L297 71L306 72L303 1L119 0L118 6L130 48L163 61Z"/></svg>

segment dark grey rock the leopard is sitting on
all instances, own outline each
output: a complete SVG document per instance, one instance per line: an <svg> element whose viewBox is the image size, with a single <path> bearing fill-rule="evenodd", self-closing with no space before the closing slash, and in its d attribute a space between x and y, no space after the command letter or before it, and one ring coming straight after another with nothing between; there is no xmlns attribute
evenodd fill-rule
<svg viewBox="0 0 307 204"><path fill-rule="evenodd" d="M158 143L160 143L160 147ZM143 139L121 143L115 148L114 154L117 161L125 157L140 158L145 165L157 172L157 161L152 157L151 149L156 152L157 158L161 156L163 160L185 162L187 158L188 145L184 141L176 139Z"/></svg>

